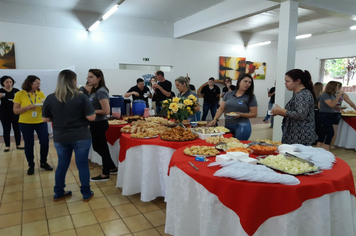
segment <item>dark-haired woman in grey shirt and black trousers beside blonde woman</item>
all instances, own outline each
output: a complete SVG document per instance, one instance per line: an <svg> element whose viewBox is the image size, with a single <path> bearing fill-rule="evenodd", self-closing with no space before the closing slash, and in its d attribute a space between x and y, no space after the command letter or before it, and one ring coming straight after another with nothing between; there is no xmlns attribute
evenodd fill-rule
<svg viewBox="0 0 356 236"><path fill-rule="evenodd" d="M110 173L116 174L117 167L111 159L105 132L109 128L106 118L110 114L109 89L105 85L104 74L99 69L90 69L88 73L89 85L93 86L90 100L95 109L96 118L90 122L93 149L103 160L102 174L91 178L91 181L108 181Z"/></svg>

